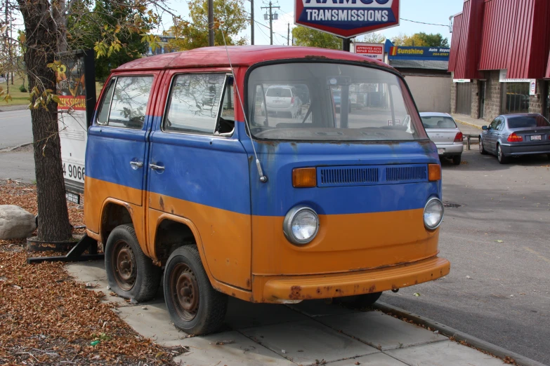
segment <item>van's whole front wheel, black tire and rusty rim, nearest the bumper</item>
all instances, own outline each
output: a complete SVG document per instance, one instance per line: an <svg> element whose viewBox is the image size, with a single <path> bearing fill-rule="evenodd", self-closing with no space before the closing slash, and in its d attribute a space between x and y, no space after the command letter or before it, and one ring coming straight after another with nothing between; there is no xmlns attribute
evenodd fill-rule
<svg viewBox="0 0 550 366"><path fill-rule="evenodd" d="M212 287L195 245L174 250L166 262L164 301L173 325L195 335L216 332L228 307L227 295Z"/></svg>

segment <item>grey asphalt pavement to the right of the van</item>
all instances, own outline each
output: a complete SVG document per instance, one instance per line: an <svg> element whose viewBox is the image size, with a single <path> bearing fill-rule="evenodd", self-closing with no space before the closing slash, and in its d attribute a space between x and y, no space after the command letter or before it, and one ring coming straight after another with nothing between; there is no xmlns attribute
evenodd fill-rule
<svg viewBox="0 0 550 366"><path fill-rule="evenodd" d="M443 199L461 205L440 231L450 274L381 301L550 365L550 159L462 161L442 162Z"/></svg>

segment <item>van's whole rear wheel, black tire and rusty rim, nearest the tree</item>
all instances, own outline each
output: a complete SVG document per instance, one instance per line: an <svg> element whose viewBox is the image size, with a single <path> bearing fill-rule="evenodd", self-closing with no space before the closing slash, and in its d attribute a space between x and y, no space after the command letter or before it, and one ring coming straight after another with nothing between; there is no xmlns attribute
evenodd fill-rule
<svg viewBox="0 0 550 366"><path fill-rule="evenodd" d="M105 271L111 290L120 297L147 301L159 290L162 269L143 253L132 225L111 231L105 244Z"/></svg>

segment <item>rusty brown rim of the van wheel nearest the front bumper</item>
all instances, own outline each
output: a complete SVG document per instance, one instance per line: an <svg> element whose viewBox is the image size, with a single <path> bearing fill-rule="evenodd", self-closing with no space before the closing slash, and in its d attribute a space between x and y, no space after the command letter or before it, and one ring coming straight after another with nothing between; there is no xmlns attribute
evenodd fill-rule
<svg viewBox="0 0 550 366"><path fill-rule="evenodd" d="M191 321L199 311L199 284L187 264L176 264L170 274L170 292L178 316Z"/></svg>

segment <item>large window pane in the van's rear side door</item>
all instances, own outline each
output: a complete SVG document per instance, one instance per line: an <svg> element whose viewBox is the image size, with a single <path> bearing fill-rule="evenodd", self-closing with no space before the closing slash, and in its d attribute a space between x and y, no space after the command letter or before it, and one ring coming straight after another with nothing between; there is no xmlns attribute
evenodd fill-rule
<svg viewBox="0 0 550 366"><path fill-rule="evenodd" d="M152 82L153 76L117 77L107 125L141 129L145 122ZM102 109L106 102L107 98Z"/></svg>

